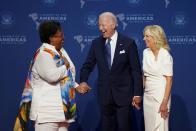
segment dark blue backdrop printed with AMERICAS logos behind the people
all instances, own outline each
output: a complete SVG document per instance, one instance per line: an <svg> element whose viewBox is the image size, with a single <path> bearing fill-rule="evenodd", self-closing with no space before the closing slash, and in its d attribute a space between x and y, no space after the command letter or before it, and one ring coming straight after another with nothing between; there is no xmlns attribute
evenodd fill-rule
<svg viewBox="0 0 196 131"><path fill-rule="evenodd" d="M196 131L196 1L194 0L1 0L0 2L0 131L11 131L29 62L40 46L37 32L43 20L58 20L65 32L65 49L77 68L83 64L91 40L99 35L98 15L113 12L118 30L134 38L140 59L145 48L143 28L161 25L174 59L170 131ZM100 131L96 92L97 72L86 95L77 95L78 120L72 131ZM134 111L134 131L143 131L143 115Z"/></svg>

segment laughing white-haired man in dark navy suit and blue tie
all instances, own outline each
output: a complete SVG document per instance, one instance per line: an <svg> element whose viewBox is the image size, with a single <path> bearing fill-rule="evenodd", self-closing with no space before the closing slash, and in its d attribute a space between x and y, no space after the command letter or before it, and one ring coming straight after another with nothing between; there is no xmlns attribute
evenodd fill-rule
<svg viewBox="0 0 196 131"><path fill-rule="evenodd" d="M88 77L97 64L102 130L130 131L131 104L140 108L142 73L135 41L118 33L116 27L111 12L99 16L102 36L92 41L81 68L80 86L88 87Z"/></svg>

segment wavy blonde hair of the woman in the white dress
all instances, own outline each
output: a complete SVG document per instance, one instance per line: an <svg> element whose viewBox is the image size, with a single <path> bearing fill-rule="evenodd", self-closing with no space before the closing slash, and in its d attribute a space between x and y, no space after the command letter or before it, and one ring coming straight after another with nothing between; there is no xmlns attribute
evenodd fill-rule
<svg viewBox="0 0 196 131"><path fill-rule="evenodd" d="M144 28L143 34L145 35L146 31L149 31L150 36L155 41L155 46L160 49L164 48L166 50L170 50L170 47L167 42L167 37L165 35L165 32L163 28L159 25L148 25Z"/></svg>

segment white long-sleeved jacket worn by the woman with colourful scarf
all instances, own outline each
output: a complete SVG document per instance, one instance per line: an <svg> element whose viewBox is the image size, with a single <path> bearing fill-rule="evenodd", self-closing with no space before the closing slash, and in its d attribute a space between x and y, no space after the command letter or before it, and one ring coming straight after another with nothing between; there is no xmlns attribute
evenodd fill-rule
<svg viewBox="0 0 196 131"><path fill-rule="evenodd" d="M30 119L37 123L66 121L61 98L60 80L67 76L67 68L65 65L57 67L51 54L43 51L44 48L58 54L55 47L50 44L43 43L40 47L40 52L32 67L31 86L33 92ZM62 48L61 52L69 61L71 70L75 71L75 67L66 51ZM75 75L73 78L75 78ZM75 87L77 85L75 83Z"/></svg>

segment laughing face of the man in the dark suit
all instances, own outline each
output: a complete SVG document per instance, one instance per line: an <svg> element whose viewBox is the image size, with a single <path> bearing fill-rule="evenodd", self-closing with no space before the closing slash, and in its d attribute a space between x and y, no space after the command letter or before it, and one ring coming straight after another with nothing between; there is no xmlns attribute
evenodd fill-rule
<svg viewBox="0 0 196 131"><path fill-rule="evenodd" d="M111 38L115 32L115 22L112 20L111 16L101 16L99 17L99 30L104 38Z"/></svg>

